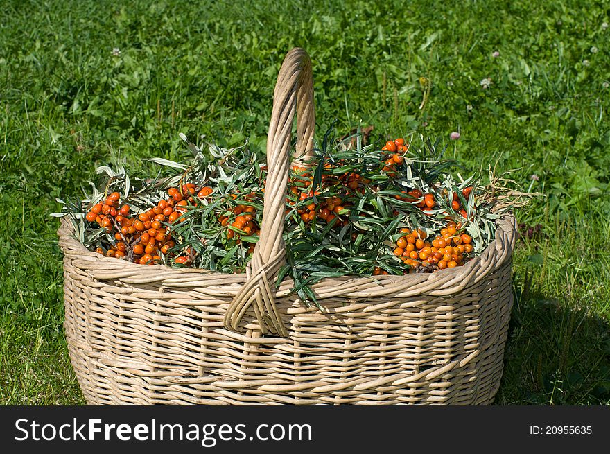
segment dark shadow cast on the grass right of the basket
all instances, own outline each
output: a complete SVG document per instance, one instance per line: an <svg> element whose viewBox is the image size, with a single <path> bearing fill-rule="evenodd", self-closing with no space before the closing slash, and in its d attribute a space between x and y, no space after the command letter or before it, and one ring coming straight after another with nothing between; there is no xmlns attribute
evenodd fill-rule
<svg viewBox="0 0 610 454"><path fill-rule="evenodd" d="M610 405L610 324L584 301L516 290L496 405Z"/></svg>

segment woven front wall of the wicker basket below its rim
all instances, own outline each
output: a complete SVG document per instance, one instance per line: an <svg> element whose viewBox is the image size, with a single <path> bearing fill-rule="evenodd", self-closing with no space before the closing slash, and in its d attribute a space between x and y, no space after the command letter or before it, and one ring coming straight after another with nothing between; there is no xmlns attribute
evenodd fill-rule
<svg viewBox="0 0 610 454"><path fill-rule="evenodd" d="M287 338L261 336L250 313L244 334L223 328L243 278L100 268L64 261L65 331L89 403L486 404L498 389L509 260L443 296L328 297L323 311L279 298Z"/></svg>

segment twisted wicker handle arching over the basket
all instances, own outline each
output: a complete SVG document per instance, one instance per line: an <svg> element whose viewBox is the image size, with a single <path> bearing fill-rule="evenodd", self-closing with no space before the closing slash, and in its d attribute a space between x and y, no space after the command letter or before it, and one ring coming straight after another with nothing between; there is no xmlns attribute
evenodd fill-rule
<svg viewBox="0 0 610 454"><path fill-rule="evenodd" d="M281 64L273 93L273 110L267 136L267 168L263 220L259 242L246 268L246 282L234 297L225 328L239 331L239 324L252 307L261 333L286 337L286 326L275 305L277 274L286 257L284 218L290 168L290 137L297 115L297 146L293 163L307 166L313 156L315 110L311 60L304 49L292 49Z"/></svg>

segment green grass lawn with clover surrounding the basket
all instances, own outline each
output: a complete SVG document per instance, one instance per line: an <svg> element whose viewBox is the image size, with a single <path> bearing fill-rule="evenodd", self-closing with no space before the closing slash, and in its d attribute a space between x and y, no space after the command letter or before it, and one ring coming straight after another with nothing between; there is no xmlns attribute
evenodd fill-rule
<svg viewBox="0 0 610 454"><path fill-rule="evenodd" d="M459 131L449 145L470 171L518 169L546 195L517 213L541 229L515 252L496 402L610 403L609 1L193 3L3 2L1 403L82 403L55 197L113 157L180 159L179 132L263 150L293 46L313 60L318 132L335 119L340 132L374 125L379 141Z"/></svg>

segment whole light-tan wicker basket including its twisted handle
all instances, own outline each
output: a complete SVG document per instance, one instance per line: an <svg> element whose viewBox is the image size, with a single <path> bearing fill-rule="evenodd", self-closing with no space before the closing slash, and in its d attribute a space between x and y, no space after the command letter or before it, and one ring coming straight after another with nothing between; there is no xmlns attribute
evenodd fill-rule
<svg viewBox="0 0 610 454"><path fill-rule="evenodd" d="M323 307L276 288L290 130L311 149L311 62L281 67L261 240L245 274L137 265L89 252L62 219L65 332L90 404L488 404L512 307L514 218L464 266L326 279Z"/></svg>

